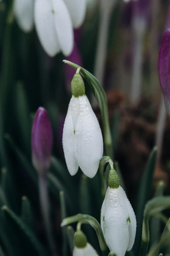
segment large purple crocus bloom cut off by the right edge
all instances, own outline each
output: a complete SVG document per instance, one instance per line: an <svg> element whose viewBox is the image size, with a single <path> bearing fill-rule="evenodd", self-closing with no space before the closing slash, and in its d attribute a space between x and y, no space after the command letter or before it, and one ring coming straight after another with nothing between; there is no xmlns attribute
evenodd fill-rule
<svg viewBox="0 0 170 256"><path fill-rule="evenodd" d="M166 111L170 115L170 29L163 35L158 61L159 80Z"/></svg>

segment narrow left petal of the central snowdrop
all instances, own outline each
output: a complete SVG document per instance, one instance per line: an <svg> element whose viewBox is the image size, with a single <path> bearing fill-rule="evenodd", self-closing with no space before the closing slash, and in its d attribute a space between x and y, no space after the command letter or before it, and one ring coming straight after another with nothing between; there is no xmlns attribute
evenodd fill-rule
<svg viewBox="0 0 170 256"><path fill-rule="evenodd" d="M71 175L78 171L78 163L74 153L74 129L71 116L72 98L70 100L67 116L63 128L63 150L66 159L67 168Z"/></svg>

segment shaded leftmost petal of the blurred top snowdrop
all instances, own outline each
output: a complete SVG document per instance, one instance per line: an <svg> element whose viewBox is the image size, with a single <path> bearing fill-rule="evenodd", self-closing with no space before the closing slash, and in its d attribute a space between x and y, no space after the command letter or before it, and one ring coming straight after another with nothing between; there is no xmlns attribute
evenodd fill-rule
<svg viewBox="0 0 170 256"><path fill-rule="evenodd" d="M14 15L19 27L30 32L34 24L34 0L14 0Z"/></svg>

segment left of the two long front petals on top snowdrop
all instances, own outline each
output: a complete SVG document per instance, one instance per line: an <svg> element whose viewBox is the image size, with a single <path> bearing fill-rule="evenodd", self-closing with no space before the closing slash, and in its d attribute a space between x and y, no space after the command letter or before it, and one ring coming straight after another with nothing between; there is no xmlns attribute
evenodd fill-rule
<svg viewBox="0 0 170 256"><path fill-rule="evenodd" d="M55 56L60 51L60 46L54 24L52 0L36 0L34 17L37 34L44 51L49 56Z"/></svg>

